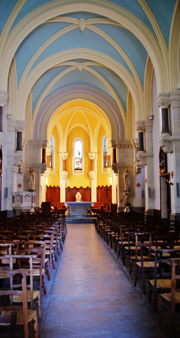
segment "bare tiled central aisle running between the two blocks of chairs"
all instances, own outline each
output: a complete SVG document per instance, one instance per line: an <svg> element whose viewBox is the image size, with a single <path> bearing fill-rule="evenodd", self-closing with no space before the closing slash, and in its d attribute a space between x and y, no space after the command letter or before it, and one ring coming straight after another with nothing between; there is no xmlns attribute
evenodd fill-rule
<svg viewBox="0 0 180 338"><path fill-rule="evenodd" d="M165 338L92 224L68 224L40 338Z"/></svg>

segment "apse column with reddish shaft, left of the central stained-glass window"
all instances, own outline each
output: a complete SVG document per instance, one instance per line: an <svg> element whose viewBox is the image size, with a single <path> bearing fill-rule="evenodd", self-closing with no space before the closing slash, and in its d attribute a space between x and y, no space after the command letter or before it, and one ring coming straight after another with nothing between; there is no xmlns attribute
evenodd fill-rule
<svg viewBox="0 0 180 338"><path fill-rule="evenodd" d="M60 152L60 202L66 202L66 178L68 172L66 171L66 160L68 158L67 152Z"/></svg>

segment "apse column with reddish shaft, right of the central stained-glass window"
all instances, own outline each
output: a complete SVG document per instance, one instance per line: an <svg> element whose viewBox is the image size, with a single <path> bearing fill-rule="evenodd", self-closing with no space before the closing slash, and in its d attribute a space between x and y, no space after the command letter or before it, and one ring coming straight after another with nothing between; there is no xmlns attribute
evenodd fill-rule
<svg viewBox="0 0 180 338"><path fill-rule="evenodd" d="M88 155L89 155L89 159L91 159L91 170L89 171L89 175L91 178L91 200L92 202L97 202L97 157L98 157L98 154L95 152L88 152Z"/></svg>

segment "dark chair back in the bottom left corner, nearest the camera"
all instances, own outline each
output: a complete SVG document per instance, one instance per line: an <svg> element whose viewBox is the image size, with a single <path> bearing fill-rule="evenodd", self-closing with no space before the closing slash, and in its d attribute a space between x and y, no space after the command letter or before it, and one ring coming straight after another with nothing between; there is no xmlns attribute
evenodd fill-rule
<svg viewBox="0 0 180 338"><path fill-rule="evenodd" d="M10 325L9 334L0 334L0 338L16 338L16 322L17 312L12 312L9 316L0 315L0 327Z"/></svg>

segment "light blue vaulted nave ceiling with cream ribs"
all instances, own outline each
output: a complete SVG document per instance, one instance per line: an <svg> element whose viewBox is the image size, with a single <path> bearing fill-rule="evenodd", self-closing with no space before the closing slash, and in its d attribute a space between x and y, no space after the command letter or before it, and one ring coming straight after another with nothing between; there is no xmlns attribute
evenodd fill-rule
<svg viewBox="0 0 180 338"><path fill-rule="evenodd" d="M127 20L131 17L131 20L146 32L154 46L163 46L160 48L164 50L165 55L168 51L176 1L74 0L72 2L79 4L79 11L77 7L72 13L63 10L63 4L70 4L70 0L1 0L0 31L3 30L8 17L14 13L14 19L11 19L12 24L8 30L9 39L20 25L25 25L26 20L30 20L29 15L33 18L35 11L39 13L39 24L35 27L32 24L32 29L28 29L28 34L19 41L15 50L16 86L19 93L17 97L19 95L19 100L22 99L20 94L22 95L24 88L26 96L31 92L33 118L43 100L47 101L52 93L59 93L64 88L68 92L69 88L79 85L88 86L93 90L97 89L102 96L109 97L109 101L113 99L116 102L125 124L128 90L132 96L135 95L133 90L134 93L137 92L140 102L143 101L148 50L146 44L142 43L143 38L137 36L137 32L116 20L95 13L95 10L90 11L94 8L91 4L106 5L111 13L113 10L114 13L123 10L123 20L125 17ZM84 10L84 3L89 4L88 11ZM51 16L51 7L55 8L53 7L55 4L62 4L62 14L58 11L57 16ZM43 21L40 14L45 10L49 13L49 19ZM162 59L165 59L164 55ZM112 67L109 67L109 64ZM25 100L27 101L27 97ZM18 106L17 103L17 109L21 111L20 104ZM143 110L143 102L140 105ZM135 108L140 109L136 103Z"/></svg>

